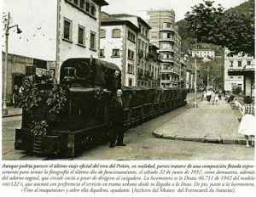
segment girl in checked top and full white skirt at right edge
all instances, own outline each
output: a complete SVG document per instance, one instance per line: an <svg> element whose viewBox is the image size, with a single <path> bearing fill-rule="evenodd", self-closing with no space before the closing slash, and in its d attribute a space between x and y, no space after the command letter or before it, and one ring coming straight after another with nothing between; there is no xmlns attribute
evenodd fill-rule
<svg viewBox="0 0 256 197"><path fill-rule="evenodd" d="M252 104L253 99L249 96L244 98L244 105L239 106L241 114L241 123L238 129L238 132L243 134L246 138L246 147L249 147L249 137L252 139L252 146L254 146L254 137L255 137L255 114L254 114L254 104Z"/></svg>

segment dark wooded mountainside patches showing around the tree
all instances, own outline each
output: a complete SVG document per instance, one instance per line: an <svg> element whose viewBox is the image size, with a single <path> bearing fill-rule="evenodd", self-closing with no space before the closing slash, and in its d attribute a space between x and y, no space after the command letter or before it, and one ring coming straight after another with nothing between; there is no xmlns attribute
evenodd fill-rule
<svg viewBox="0 0 256 197"><path fill-rule="evenodd" d="M247 12L254 12L254 0L248 0L245 3L241 3L240 5L236 6L235 8L229 8L225 12L231 12L231 11L237 11L237 12L242 12L242 13L247 13ZM187 30L186 27L186 20L179 20L177 21L176 25L179 27L179 35L182 40L182 46L181 50L182 53L189 53L189 50L194 48L195 40L194 38L189 34L189 31ZM221 55L222 50L221 48L218 48L217 46L213 44L207 44L207 43L199 43L199 48L204 49L204 48L212 48L215 50L215 55Z"/></svg>

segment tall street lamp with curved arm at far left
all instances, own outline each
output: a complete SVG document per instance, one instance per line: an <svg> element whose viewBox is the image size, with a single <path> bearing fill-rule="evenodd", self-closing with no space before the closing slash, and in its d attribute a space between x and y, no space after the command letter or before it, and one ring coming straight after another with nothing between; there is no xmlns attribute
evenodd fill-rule
<svg viewBox="0 0 256 197"><path fill-rule="evenodd" d="M9 29L17 28L17 33L20 34L22 31L19 28L19 25L9 26L9 13L7 18L6 24L6 31L5 31L5 64L4 64L4 79L3 79L3 108L2 114L8 115L7 109L7 78L8 78L8 37L9 37Z"/></svg>

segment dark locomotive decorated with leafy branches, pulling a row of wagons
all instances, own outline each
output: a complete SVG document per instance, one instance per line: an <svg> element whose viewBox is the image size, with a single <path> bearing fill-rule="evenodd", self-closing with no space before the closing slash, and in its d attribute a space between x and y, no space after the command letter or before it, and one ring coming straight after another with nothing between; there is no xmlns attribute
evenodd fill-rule
<svg viewBox="0 0 256 197"><path fill-rule="evenodd" d="M186 89L124 87L116 71L121 74L117 65L101 59L67 59L58 84L44 76L26 82L15 149L73 157L107 142L110 99L118 88L123 90L125 128L187 104Z"/></svg>

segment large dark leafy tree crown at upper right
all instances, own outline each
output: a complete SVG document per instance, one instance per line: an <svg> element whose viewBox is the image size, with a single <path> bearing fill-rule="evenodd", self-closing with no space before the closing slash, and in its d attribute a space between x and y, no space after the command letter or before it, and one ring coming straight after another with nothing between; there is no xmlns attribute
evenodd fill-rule
<svg viewBox="0 0 256 197"><path fill-rule="evenodd" d="M213 7L213 1L204 0L192 7L185 20L189 32L197 42L207 42L229 48L231 53L247 53L254 56L254 14L249 11L224 12L218 4Z"/></svg>

